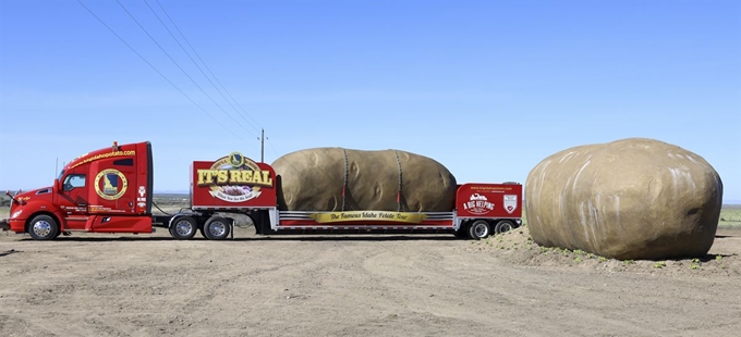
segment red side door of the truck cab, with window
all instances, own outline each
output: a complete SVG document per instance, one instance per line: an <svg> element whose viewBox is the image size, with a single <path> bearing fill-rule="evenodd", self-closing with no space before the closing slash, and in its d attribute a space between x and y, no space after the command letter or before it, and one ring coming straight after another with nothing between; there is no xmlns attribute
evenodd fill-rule
<svg viewBox="0 0 741 337"><path fill-rule="evenodd" d="M85 229L87 222L87 176L70 173L62 180L59 205L64 210L65 229Z"/></svg>

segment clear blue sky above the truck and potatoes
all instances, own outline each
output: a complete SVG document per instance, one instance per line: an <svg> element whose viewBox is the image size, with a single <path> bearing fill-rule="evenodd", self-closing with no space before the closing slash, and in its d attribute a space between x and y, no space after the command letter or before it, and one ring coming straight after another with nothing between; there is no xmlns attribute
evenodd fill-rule
<svg viewBox="0 0 741 337"><path fill-rule="evenodd" d="M265 128L266 162L393 148L459 182L647 137L741 203L739 1L81 1L135 51L76 0L0 1L0 188L149 140L155 189L186 190L192 160L259 159Z"/></svg>

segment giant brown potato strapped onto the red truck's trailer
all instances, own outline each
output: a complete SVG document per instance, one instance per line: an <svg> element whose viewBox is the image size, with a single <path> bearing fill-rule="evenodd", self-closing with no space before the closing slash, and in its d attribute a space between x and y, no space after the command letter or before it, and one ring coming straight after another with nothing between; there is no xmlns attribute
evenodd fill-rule
<svg viewBox="0 0 741 337"><path fill-rule="evenodd" d="M283 211L450 212L458 187L442 164L399 150L306 149L272 167Z"/></svg>

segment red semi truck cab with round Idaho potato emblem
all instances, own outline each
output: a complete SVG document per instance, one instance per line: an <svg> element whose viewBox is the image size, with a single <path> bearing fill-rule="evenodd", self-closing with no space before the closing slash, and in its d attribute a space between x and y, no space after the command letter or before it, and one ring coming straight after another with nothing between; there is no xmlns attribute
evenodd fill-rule
<svg viewBox="0 0 741 337"><path fill-rule="evenodd" d="M51 187L15 195L10 230L49 240L62 233L151 233L151 145L119 146L68 163Z"/></svg>

